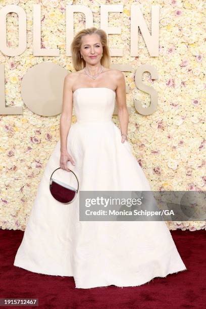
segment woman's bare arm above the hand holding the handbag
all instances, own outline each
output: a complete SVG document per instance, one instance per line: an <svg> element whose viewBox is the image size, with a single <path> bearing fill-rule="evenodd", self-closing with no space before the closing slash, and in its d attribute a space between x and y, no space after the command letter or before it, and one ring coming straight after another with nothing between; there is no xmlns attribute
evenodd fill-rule
<svg viewBox="0 0 206 309"><path fill-rule="evenodd" d="M71 74L66 75L64 79L63 106L60 118L60 151L62 153L67 152L67 136L72 123L73 92Z"/></svg>

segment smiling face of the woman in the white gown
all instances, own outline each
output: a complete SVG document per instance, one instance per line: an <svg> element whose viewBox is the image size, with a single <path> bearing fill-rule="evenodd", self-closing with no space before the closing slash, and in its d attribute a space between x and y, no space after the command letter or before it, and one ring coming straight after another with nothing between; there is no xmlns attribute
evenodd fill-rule
<svg viewBox="0 0 206 309"><path fill-rule="evenodd" d="M82 36L80 53L86 63L97 64L101 60L103 52L102 44L98 34L86 34ZM95 56L92 58L92 56Z"/></svg>

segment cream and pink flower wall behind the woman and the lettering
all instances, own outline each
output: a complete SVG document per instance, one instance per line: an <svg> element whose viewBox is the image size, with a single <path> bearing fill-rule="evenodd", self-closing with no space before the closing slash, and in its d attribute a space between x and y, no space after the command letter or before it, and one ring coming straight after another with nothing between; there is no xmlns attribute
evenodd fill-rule
<svg viewBox="0 0 206 309"><path fill-rule="evenodd" d="M205 1L57 1L2 0L22 7L27 14L27 49L18 57L0 52L5 66L6 106L22 106L23 115L0 116L0 224L2 229L24 230L30 215L41 175L59 140L60 115L43 117L32 113L23 103L21 80L29 68L51 61L68 72L74 69L66 56L66 5L86 5L99 28L100 5L122 4L122 13L110 13L110 26L121 26L121 35L109 35L110 48L123 48L123 57L112 57L112 64L131 64L125 72L129 85L127 105L131 107L128 126L133 153L149 179L152 190L205 190ZM41 4L42 48L60 48L59 57L33 56L33 4ZM150 30L151 5L160 5L160 53L150 57L139 31L139 57L130 57L130 7L140 6ZM75 33L85 27L84 16L75 13ZM18 17L7 15L8 46L18 46ZM134 74L141 64L157 68L158 80L145 72L142 80L159 95L158 110L142 116L134 109L134 99L145 106L150 96L136 88ZM73 122L76 117L73 115ZM113 120L119 126L118 116ZM205 229L205 221L167 222L170 230Z"/></svg>

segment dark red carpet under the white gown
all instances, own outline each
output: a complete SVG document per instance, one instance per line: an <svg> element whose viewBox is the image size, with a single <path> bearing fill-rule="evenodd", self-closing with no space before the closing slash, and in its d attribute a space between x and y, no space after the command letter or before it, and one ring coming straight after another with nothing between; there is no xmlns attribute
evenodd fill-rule
<svg viewBox="0 0 206 309"><path fill-rule="evenodd" d="M13 266L23 232L0 229L0 298L38 298L38 306L21 307L43 309L203 308L206 301L206 231L177 230L171 234L187 271L154 278L138 287L76 289L73 277L41 275Z"/></svg>

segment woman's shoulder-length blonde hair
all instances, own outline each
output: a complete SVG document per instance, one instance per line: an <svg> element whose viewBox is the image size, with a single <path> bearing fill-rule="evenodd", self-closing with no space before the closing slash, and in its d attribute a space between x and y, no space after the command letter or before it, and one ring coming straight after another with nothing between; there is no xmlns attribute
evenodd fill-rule
<svg viewBox="0 0 206 309"><path fill-rule="evenodd" d="M102 30L102 29L97 29L95 27L91 27L91 28L87 28L87 29L83 29L81 31L79 31L72 43L71 43L71 54L72 54L72 64L73 67L76 71L82 70L85 65L86 62L83 58L81 58L81 54L80 54L80 47L82 44L82 36L87 35L87 34L98 34L100 37L100 42L102 44L102 57L100 60L100 63L102 66L104 66L105 68L110 68L111 65L111 58L110 58L110 52L109 52L109 47L107 45L107 33Z"/></svg>

